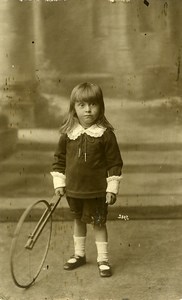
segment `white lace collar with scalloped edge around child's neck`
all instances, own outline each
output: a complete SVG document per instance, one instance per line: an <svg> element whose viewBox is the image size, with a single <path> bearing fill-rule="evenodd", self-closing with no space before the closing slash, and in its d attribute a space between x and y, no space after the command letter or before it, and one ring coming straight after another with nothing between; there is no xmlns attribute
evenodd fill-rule
<svg viewBox="0 0 182 300"><path fill-rule="evenodd" d="M90 126L89 128L83 128L80 124L76 124L75 127L68 132L68 137L70 140L76 140L81 134L86 133L91 137L101 137L105 132L106 128L98 126L96 124Z"/></svg>

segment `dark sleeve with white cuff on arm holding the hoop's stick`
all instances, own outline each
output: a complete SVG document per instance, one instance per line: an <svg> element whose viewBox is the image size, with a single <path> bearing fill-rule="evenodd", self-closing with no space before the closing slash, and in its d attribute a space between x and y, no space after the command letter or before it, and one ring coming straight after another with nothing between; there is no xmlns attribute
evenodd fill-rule
<svg viewBox="0 0 182 300"><path fill-rule="evenodd" d="M57 149L54 154L54 162L52 164L54 188L66 186L66 134L61 135Z"/></svg>

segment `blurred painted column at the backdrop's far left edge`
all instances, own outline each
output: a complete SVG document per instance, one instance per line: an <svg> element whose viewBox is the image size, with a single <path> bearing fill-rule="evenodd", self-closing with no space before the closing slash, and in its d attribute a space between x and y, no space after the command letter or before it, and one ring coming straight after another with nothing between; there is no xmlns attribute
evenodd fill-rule
<svg viewBox="0 0 182 300"><path fill-rule="evenodd" d="M12 127L34 126L37 97L32 1L0 1L0 110Z"/></svg>

